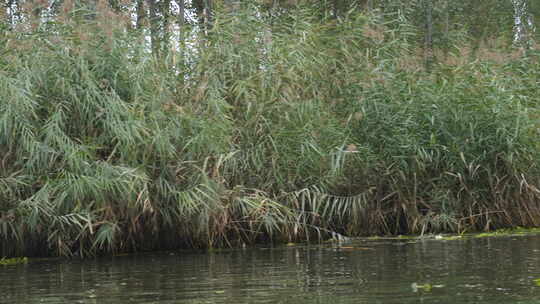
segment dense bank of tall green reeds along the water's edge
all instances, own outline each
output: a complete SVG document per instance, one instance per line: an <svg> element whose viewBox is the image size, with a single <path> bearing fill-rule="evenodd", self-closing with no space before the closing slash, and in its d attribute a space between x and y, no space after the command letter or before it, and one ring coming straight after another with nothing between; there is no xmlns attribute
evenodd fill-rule
<svg viewBox="0 0 540 304"><path fill-rule="evenodd" d="M2 25L0 256L540 226L540 52L512 19L250 2L167 34L98 9Z"/></svg>

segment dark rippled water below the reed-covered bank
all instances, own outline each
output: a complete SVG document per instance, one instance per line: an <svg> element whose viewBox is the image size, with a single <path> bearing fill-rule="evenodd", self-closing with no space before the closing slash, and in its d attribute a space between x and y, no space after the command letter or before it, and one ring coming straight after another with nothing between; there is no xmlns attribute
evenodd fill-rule
<svg viewBox="0 0 540 304"><path fill-rule="evenodd" d="M342 246L31 260L0 303L540 303L538 235Z"/></svg>

